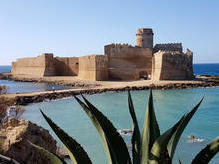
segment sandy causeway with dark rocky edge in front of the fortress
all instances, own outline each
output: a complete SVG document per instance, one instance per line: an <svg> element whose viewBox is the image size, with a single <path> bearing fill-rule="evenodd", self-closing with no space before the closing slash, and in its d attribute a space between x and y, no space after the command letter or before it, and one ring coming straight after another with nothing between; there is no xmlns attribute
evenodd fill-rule
<svg viewBox="0 0 219 164"><path fill-rule="evenodd" d="M8 75L4 75L6 80L15 80ZM0 77L1 79L1 77ZM22 80L22 79L20 79ZM31 79L29 79L31 80ZM27 79L23 79L27 81ZM34 80L35 81L35 80ZM51 83L49 81L46 81ZM73 81L74 82L74 81ZM60 82L55 84L60 84ZM6 94L3 96L12 98L17 105L27 105L30 103L38 103L43 101L50 101L61 99L65 97L72 97L73 95L78 94L97 94L103 92L121 92L127 90L147 90L147 89L156 89L156 90L166 90L166 89L191 89L199 87L216 87L219 86L219 77L212 76L196 76L196 79L191 81L166 81L166 82L153 82L153 81L136 81L136 82L94 82L92 86L89 83L83 87L66 89L66 90L55 90L55 91L43 91L43 92L32 92L32 93L18 93L18 94ZM82 84L84 84L82 83ZM100 85L101 84L101 85ZM73 84L72 84L73 85Z"/></svg>

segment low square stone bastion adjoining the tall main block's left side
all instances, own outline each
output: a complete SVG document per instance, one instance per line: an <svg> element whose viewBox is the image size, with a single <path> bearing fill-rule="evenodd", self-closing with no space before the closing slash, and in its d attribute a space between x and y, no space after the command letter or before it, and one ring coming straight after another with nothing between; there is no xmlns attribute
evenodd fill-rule
<svg viewBox="0 0 219 164"><path fill-rule="evenodd" d="M104 55L89 55L79 58L79 78L108 80L108 61Z"/></svg>

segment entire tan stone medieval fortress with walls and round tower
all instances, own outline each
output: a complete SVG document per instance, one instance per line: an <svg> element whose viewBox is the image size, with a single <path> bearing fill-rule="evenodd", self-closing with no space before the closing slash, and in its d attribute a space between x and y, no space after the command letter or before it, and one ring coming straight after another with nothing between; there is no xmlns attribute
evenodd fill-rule
<svg viewBox="0 0 219 164"><path fill-rule="evenodd" d="M104 55L54 57L44 53L34 58L12 62L15 77L77 76L104 80L186 80L193 78L193 53L183 52L181 43L153 45L150 28L138 29L136 46L109 44Z"/></svg>

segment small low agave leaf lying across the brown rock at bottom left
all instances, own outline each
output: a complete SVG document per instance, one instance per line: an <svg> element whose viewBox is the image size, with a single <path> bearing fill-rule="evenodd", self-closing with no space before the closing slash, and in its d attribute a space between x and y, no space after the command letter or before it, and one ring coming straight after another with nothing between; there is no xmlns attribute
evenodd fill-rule
<svg viewBox="0 0 219 164"><path fill-rule="evenodd" d="M52 164L66 164L64 160L62 160L60 157L58 157L56 154L53 154L49 152L48 150L44 149L43 147L40 147L38 145L35 145L34 143L28 141L31 146L33 146L35 149L37 149L42 155L47 157L50 163Z"/></svg>

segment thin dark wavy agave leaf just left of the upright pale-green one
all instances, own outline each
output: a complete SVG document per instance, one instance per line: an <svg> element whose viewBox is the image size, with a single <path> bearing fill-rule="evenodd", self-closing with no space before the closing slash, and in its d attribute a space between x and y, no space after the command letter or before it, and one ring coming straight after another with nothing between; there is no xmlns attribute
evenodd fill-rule
<svg viewBox="0 0 219 164"><path fill-rule="evenodd" d="M134 105L130 91L128 91L128 104L129 113L132 118L133 135L132 135L132 156L133 164L140 164L140 151L141 151L141 134L138 126L138 120L135 115Z"/></svg>

